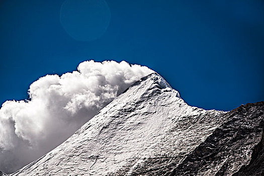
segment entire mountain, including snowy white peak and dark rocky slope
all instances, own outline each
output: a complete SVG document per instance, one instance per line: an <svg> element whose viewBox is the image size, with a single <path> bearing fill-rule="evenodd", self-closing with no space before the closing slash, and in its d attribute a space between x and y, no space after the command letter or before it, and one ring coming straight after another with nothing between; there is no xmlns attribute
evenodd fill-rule
<svg viewBox="0 0 264 176"><path fill-rule="evenodd" d="M263 112L191 107L153 73L12 175L261 175Z"/></svg>

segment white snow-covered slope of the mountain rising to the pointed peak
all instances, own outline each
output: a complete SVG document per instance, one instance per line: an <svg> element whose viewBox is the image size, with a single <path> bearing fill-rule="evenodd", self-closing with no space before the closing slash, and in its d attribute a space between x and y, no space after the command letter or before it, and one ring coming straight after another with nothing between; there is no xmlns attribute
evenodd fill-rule
<svg viewBox="0 0 264 176"><path fill-rule="evenodd" d="M152 73L64 143L12 175L177 175L175 168L190 166L188 157L228 118L226 112L187 105ZM252 150L245 151L244 160L228 166L229 175L248 164ZM215 175L224 162L196 175Z"/></svg>

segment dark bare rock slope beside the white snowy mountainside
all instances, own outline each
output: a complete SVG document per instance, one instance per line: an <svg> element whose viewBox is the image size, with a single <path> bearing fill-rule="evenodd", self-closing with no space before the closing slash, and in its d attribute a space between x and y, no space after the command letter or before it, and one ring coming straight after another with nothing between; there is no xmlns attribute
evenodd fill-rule
<svg viewBox="0 0 264 176"><path fill-rule="evenodd" d="M226 121L166 175L264 175L263 112L258 102L221 115Z"/></svg>

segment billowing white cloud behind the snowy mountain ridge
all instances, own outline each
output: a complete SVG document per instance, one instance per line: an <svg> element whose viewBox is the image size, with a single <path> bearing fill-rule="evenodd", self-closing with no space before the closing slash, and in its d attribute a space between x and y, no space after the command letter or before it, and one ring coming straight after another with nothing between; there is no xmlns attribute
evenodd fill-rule
<svg viewBox="0 0 264 176"><path fill-rule="evenodd" d="M0 109L0 170L14 172L55 148L141 77L153 72L125 61L85 61L78 70L46 75L27 101Z"/></svg>

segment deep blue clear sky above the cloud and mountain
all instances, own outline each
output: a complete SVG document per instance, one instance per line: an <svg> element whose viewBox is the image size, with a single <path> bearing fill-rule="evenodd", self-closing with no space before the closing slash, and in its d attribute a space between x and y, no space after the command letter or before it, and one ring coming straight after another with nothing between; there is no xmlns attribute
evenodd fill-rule
<svg viewBox="0 0 264 176"><path fill-rule="evenodd" d="M0 1L0 104L88 59L146 65L204 109L264 101L264 1L63 2Z"/></svg>

